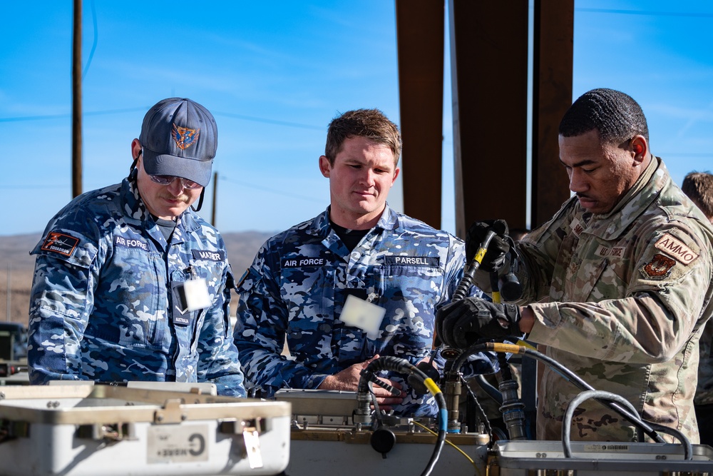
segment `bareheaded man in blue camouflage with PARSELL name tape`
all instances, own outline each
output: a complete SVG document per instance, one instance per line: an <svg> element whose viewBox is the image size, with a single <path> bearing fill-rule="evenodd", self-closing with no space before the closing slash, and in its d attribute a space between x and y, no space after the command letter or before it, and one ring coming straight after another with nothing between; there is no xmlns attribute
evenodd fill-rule
<svg viewBox="0 0 713 476"><path fill-rule="evenodd" d="M434 315L458 285L465 250L386 204L400 153L399 130L381 111L335 118L319 157L329 208L267 240L242 279L235 342L247 380L268 396L280 388L354 391L377 356L414 365L429 358ZM285 338L289 358L281 355ZM479 370L493 372L488 360ZM434 415L433 399L424 403L403 375L383 377L401 395L375 388L382 409Z"/></svg>

